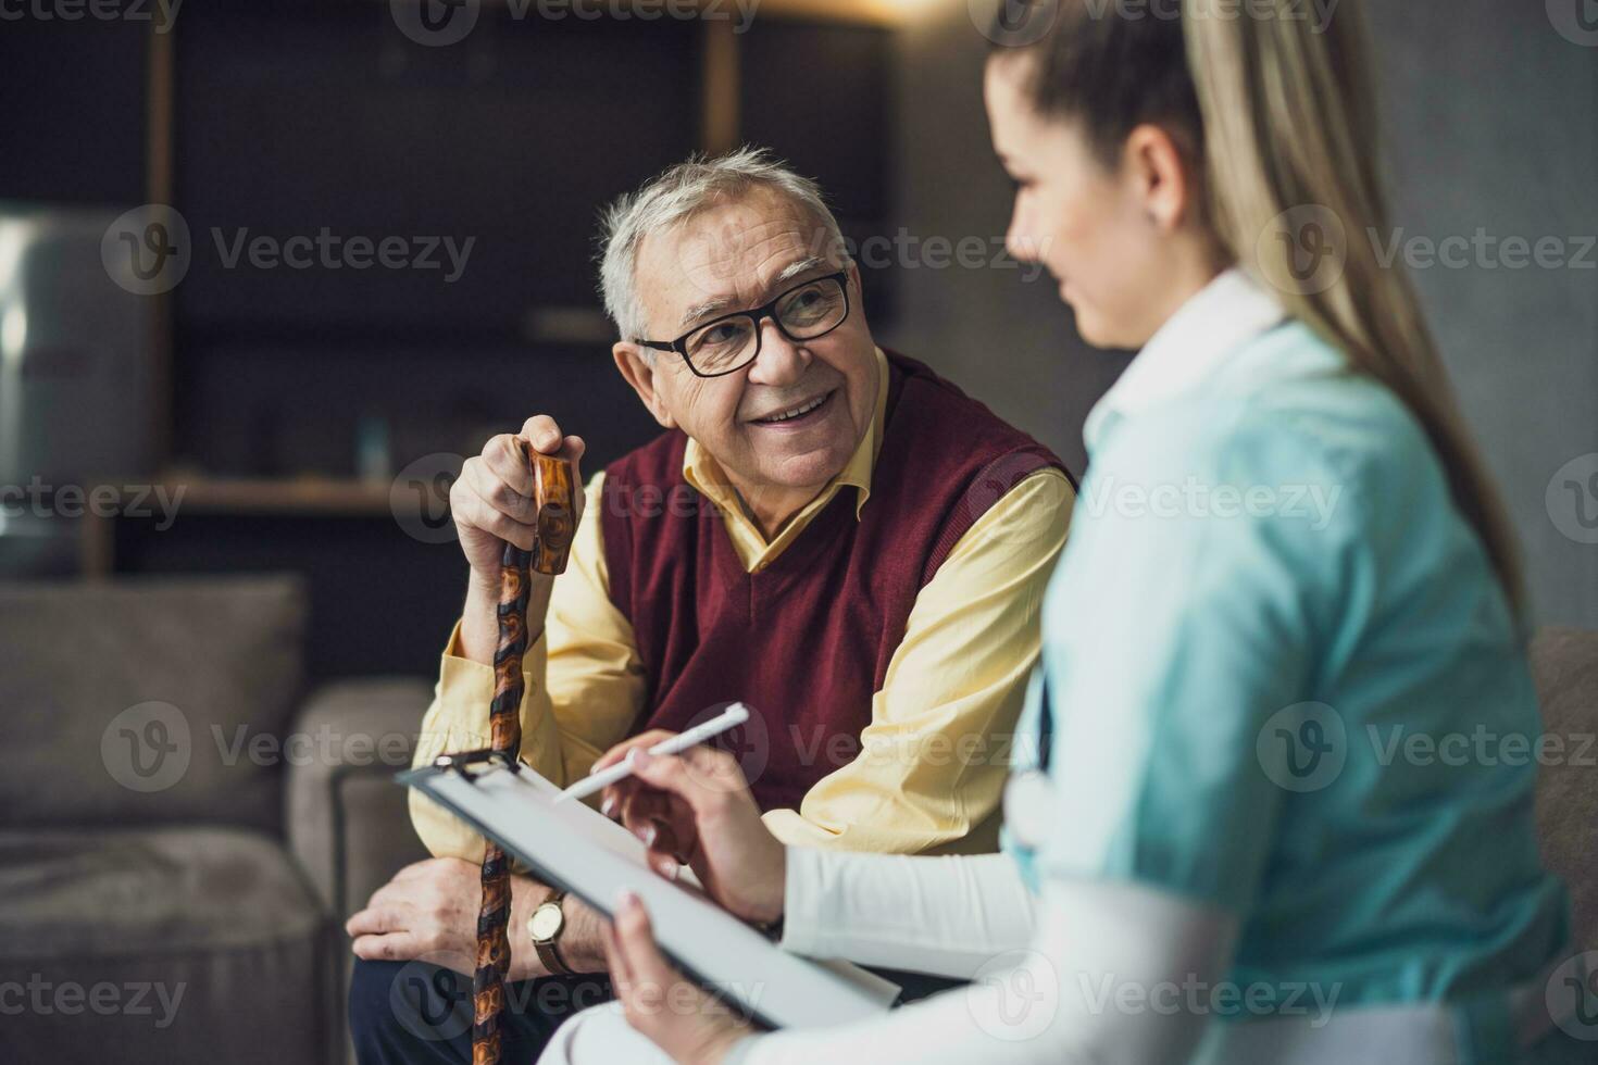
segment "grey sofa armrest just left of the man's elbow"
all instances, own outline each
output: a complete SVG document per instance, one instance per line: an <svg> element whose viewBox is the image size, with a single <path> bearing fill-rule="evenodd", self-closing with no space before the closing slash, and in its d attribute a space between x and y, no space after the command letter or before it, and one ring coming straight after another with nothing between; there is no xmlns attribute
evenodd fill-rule
<svg viewBox="0 0 1598 1065"><path fill-rule="evenodd" d="M427 857L406 789L431 687L419 679L345 680L312 693L294 723L284 792L289 851L339 923L409 862Z"/></svg>

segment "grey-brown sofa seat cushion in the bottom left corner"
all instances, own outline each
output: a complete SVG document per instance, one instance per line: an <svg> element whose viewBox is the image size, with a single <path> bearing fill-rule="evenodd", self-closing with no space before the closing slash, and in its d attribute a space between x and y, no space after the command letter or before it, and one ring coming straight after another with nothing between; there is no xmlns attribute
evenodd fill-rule
<svg viewBox="0 0 1598 1065"><path fill-rule="evenodd" d="M331 944L260 833L0 830L5 1060L324 1060Z"/></svg>

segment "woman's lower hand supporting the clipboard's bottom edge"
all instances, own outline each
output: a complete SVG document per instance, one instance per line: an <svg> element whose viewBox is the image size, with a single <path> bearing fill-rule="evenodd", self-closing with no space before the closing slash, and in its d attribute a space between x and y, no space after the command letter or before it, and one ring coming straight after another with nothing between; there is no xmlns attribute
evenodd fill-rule
<svg viewBox="0 0 1598 1065"><path fill-rule="evenodd" d="M662 956L649 915L630 891L606 932L606 958L626 1022L678 1065L721 1065L733 1043L753 1035L732 1008L684 980Z"/></svg>

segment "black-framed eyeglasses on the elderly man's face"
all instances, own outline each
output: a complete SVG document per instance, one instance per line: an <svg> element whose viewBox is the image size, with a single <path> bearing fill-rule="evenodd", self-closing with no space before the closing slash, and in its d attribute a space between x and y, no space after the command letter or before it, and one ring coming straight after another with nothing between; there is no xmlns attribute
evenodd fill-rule
<svg viewBox="0 0 1598 1065"><path fill-rule="evenodd" d="M793 342L818 340L849 318L849 271L797 284L764 307L722 315L676 340L634 340L646 348L676 351L698 377L735 374L761 354L761 323L770 318Z"/></svg>

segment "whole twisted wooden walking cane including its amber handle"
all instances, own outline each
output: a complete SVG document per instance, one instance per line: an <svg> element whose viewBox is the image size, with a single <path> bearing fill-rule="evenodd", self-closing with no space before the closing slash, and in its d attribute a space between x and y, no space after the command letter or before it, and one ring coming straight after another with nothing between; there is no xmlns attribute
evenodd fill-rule
<svg viewBox="0 0 1598 1065"><path fill-rule="evenodd" d="M521 758L521 656L527 650L529 570L566 572L572 551L574 485L572 468L562 458L540 455L518 439L523 457L532 463L532 498L539 508L539 536L532 551L505 544L500 560L499 645L494 650L494 701L489 704L489 734L494 750ZM471 1063L499 1065L505 974L510 971L510 859L487 841L483 853L483 909L478 912L478 968L471 976Z"/></svg>

